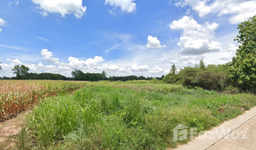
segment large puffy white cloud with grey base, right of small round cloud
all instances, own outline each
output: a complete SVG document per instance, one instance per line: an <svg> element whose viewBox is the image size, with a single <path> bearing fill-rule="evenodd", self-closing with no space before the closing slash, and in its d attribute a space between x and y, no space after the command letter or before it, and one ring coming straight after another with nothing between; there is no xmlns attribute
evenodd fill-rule
<svg viewBox="0 0 256 150"><path fill-rule="evenodd" d="M205 52L217 52L221 47L219 42L213 41L217 23L198 24L193 18L184 16L169 25L173 30L182 30L178 46L183 54L203 54Z"/></svg>

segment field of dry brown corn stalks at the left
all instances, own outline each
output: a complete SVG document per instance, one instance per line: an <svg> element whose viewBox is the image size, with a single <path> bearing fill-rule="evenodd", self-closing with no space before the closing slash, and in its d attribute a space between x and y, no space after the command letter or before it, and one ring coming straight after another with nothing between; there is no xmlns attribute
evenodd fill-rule
<svg viewBox="0 0 256 150"><path fill-rule="evenodd" d="M43 97L50 97L84 87L86 82L48 80L0 81L0 119L17 115L37 104Z"/></svg>

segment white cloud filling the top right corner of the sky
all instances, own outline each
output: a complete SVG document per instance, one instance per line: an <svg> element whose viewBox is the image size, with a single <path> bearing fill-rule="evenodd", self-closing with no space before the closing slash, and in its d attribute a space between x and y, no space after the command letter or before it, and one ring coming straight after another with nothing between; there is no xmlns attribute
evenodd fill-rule
<svg viewBox="0 0 256 150"><path fill-rule="evenodd" d="M176 6L190 6L198 13L199 17L203 18L209 13L216 13L218 17L231 14L229 23L237 24L248 20L256 14L256 1L248 0L177 0Z"/></svg>

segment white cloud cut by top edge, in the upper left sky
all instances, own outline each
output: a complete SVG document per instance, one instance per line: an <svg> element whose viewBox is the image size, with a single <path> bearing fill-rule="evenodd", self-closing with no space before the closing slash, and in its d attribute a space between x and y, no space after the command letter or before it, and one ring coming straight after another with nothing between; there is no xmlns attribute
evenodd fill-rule
<svg viewBox="0 0 256 150"><path fill-rule="evenodd" d="M76 18L82 18L86 12L83 0L32 0L38 4L41 14L46 17L48 13L60 13L62 17L73 13Z"/></svg>

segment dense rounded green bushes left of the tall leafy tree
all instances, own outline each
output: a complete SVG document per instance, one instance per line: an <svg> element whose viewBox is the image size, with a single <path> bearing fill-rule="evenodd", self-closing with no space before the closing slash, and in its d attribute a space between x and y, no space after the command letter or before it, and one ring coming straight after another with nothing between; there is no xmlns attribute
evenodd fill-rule
<svg viewBox="0 0 256 150"><path fill-rule="evenodd" d="M229 86L233 86L228 77L228 71L222 65L210 64L205 67L203 58L195 67L184 67L178 74L170 72L163 78L163 82L182 84L184 87L217 90L223 92Z"/></svg>

